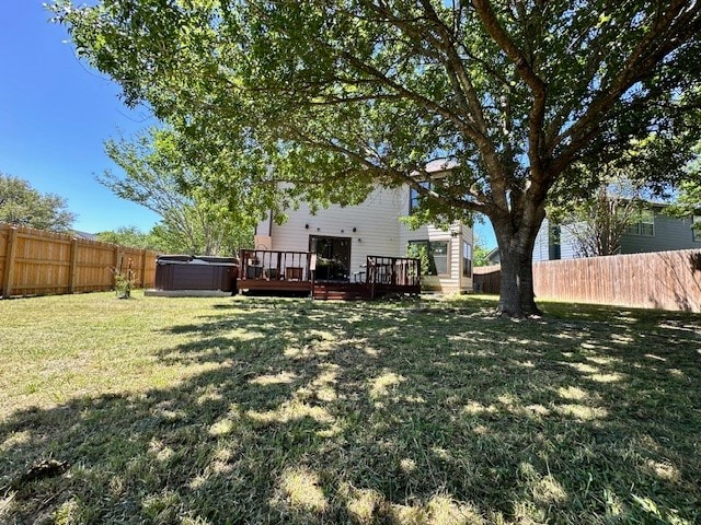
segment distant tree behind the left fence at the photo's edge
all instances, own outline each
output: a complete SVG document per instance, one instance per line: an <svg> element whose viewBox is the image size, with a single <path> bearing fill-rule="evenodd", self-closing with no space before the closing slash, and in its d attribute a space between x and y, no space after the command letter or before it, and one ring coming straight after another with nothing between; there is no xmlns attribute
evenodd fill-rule
<svg viewBox="0 0 701 525"><path fill-rule="evenodd" d="M0 173L0 221L54 232L70 231L76 215L66 199L42 194L20 177Z"/></svg>

